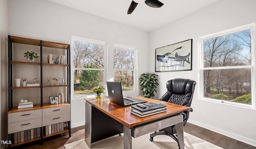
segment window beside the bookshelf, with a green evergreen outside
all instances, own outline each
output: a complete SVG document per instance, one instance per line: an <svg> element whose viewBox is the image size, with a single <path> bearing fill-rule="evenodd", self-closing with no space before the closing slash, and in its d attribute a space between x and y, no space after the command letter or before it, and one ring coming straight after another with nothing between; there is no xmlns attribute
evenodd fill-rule
<svg viewBox="0 0 256 149"><path fill-rule="evenodd" d="M93 89L105 86L106 43L72 36L72 44L74 98L95 97Z"/></svg>

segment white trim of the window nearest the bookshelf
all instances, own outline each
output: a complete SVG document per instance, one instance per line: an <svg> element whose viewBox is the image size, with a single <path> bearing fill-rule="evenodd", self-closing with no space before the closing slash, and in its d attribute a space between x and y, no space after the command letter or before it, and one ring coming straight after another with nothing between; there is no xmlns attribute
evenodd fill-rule
<svg viewBox="0 0 256 149"><path fill-rule="evenodd" d="M74 41L80 41L80 42L88 42L88 43L92 43L92 44L101 44L101 45L104 45L105 48L104 48L104 69L96 69L96 68L74 68L73 66L73 53L74 53L74 45L73 45L73 42ZM70 87L71 87L71 93L70 93L70 96L71 96L71 99L84 99L84 96L81 96L81 97L74 97L74 70L103 70L104 72L104 87L106 87L106 70L107 70L107 42L102 42L102 41L99 41L99 40L92 40L92 39L88 39L88 38L82 38L82 37L77 37L77 36L71 36L71 49L70 49L70 71L71 71L71 84L70 84ZM95 97L95 95L92 95L92 97Z"/></svg>

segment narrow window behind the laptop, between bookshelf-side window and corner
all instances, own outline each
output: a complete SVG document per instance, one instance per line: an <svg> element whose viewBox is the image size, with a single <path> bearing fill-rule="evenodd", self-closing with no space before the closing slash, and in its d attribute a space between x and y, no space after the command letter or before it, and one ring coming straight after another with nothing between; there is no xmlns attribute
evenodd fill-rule
<svg viewBox="0 0 256 149"><path fill-rule="evenodd" d="M123 91L136 91L136 48L114 45L114 81L121 82Z"/></svg>

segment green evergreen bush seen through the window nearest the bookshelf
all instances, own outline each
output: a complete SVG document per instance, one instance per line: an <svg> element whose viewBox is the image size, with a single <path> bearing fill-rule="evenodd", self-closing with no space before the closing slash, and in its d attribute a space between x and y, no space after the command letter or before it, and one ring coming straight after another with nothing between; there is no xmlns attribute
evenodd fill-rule
<svg viewBox="0 0 256 149"><path fill-rule="evenodd" d="M85 65L84 68L98 68L97 66L91 64ZM78 77L80 79L80 87L82 89L91 89L99 85L100 79L98 78L100 74L100 70L83 70L81 76Z"/></svg>

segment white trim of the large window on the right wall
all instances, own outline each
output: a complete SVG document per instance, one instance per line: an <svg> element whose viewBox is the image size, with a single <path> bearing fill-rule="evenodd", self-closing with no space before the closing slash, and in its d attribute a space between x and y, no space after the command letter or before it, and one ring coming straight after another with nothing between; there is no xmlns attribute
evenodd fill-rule
<svg viewBox="0 0 256 149"><path fill-rule="evenodd" d="M225 68L221 68L221 69L233 69L233 68L251 68L251 84L252 84L252 105L247 105L247 104L243 104L243 103L237 103L237 102L231 102L231 101L222 101L219 99L211 99L211 98L206 98L204 97L204 78L203 76L203 71L204 70L215 70L214 68L204 68L204 58L203 58L203 40L209 39L209 38L215 38L218 36L223 36L226 34L232 34L234 32L240 32L243 30L248 30L251 29L251 44L252 44L252 50L251 50L251 54L252 54L252 65L251 66L230 66L230 67L225 67ZM256 58L256 52L255 52L255 44L256 44L256 37L255 37L255 31L256 31L256 23L251 23L251 24L247 24L244 26L240 26L237 28L232 28L229 30L224 30L221 32L217 32L214 34L209 34L206 36L201 36L198 38L198 48L199 48L199 58L198 58L198 63L199 63L199 69L198 69L198 92L199 92L199 99L200 100L204 100L204 101L210 101L210 102L216 102L216 103L223 103L226 105L233 105L233 106L238 106L238 107L246 107L246 108L251 108L251 109L256 109L256 99L255 99L255 94L256 94L256 90L255 90L255 79L256 79L256 64L255 64L255 58Z"/></svg>

